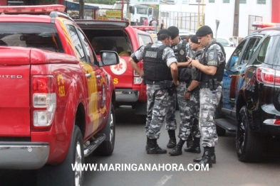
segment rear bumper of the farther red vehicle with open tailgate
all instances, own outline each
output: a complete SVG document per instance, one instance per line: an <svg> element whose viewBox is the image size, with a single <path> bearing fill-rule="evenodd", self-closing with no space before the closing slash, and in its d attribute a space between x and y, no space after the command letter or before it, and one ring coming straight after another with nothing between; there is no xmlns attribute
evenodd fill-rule
<svg viewBox="0 0 280 186"><path fill-rule="evenodd" d="M139 91L134 89L115 89L116 102L137 102Z"/></svg>

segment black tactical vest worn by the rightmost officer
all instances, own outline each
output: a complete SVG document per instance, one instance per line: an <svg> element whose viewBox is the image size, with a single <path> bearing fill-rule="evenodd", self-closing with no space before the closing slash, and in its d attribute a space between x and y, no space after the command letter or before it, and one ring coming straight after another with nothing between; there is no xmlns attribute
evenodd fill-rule
<svg viewBox="0 0 280 186"><path fill-rule="evenodd" d="M224 54L224 62L222 62L222 64L219 65L219 67L217 68L217 72L215 75L207 75L207 74L204 74L204 72L202 72L202 75L201 75L201 82L206 82L210 79L217 79L218 82L222 82L222 77L224 75L224 67L226 65L226 62L225 62L225 58L226 58L226 53L224 52L224 47L221 43L217 43L216 41L212 41L211 45L214 45L214 44L217 44L219 45L221 48L222 48L222 53ZM207 65L207 60L205 58L205 55L206 55L206 52L208 50L208 48L211 46L211 45L208 45L205 49L204 49L204 53L202 53L202 64L203 65Z"/></svg>

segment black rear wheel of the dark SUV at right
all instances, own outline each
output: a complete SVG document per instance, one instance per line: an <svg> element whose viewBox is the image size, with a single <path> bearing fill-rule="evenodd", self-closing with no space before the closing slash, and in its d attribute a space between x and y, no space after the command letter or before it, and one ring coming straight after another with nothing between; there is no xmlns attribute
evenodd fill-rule
<svg viewBox="0 0 280 186"><path fill-rule="evenodd" d="M237 156L242 162L258 162L261 160L263 141L261 136L251 131L247 113L247 106L243 106L239 111L236 133Z"/></svg>

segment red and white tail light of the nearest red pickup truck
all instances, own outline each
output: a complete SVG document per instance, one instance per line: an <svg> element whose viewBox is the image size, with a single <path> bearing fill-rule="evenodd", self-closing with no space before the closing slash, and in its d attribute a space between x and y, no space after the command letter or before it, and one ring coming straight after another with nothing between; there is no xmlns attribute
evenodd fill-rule
<svg viewBox="0 0 280 186"><path fill-rule="evenodd" d="M31 119L33 130L45 131L51 128L56 111L56 93L53 76L31 77Z"/></svg>

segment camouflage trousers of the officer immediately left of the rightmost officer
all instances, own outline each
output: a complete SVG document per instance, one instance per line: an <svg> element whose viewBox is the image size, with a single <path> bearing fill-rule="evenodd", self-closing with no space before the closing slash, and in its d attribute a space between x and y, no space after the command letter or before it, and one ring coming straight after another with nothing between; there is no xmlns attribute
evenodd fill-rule
<svg viewBox="0 0 280 186"><path fill-rule="evenodd" d="M199 89L195 89L195 92L190 94L190 99L184 99L184 93L186 91L186 83L180 82L177 87L177 98L179 102L180 109L180 130L178 137L184 141L191 137L200 138L200 132L198 123L195 119L199 119Z"/></svg>

